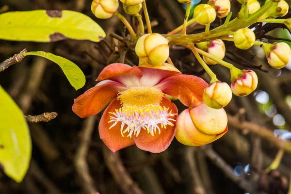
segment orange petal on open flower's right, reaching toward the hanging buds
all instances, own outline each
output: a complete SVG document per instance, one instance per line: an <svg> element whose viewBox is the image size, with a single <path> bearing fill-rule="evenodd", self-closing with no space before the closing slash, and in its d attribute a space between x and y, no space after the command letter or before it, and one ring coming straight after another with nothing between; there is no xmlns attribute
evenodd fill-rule
<svg viewBox="0 0 291 194"><path fill-rule="evenodd" d="M164 94L178 98L185 106L203 103L203 91L208 83L192 75L178 75L166 78L156 85Z"/></svg>

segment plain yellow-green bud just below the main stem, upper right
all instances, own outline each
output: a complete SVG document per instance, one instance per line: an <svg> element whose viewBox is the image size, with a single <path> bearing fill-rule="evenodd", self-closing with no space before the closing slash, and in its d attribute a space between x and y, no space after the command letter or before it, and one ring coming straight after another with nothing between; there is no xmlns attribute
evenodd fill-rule
<svg viewBox="0 0 291 194"><path fill-rule="evenodd" d="M251 29L242 28L234 33L233 39L237 48L246 50L254 45L256 35Z"/></svg>

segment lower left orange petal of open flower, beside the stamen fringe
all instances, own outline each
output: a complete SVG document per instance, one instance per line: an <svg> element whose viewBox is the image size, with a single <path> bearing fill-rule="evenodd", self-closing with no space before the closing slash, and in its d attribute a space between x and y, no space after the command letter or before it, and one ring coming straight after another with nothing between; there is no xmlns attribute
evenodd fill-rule
<svg viewBox="0 0 291 194"><path fill-rule="evenodd" d="M116 152L124 147L134 145L133 138L127 137L126 135L122 137L120 133L121 122L117 123L113 128L109 129L113 125L113 123L108 123L111 116L109 112L115 112L115 109L119 109L120 107L120 101L115 98L108 105L99 122L100 139L113 152Z"/></svg>

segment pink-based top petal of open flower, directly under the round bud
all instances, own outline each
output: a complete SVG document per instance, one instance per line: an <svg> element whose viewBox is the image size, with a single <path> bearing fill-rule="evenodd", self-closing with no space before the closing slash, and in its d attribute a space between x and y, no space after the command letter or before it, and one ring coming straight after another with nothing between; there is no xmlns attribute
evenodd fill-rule
<svg viewBox="0 0 291 194"><path fill-rule="evenodd" d="M153 69L147 67L139 67L139 69L143 72L143 77L140 79L140 84L147 86L156 85L168 77L181 74L177 71Z"/></svg>

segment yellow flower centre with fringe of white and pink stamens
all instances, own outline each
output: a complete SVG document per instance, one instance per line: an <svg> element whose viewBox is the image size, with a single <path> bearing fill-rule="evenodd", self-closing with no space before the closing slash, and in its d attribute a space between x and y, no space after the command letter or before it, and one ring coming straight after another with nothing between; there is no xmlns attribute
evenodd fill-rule
<svg viewBox="0 0 291 194"><path fill-rule="evenodd" d="M117 123L121 122L120 133L124 137L124 133L129 133L127 137L136 137L141 129L145 129L152 136L157 133L161 134L161 128L166 129L167 125L174 126L171 121L176 122L171 117L176 113L172 113L169 108L160 106L163 93L161 90L149 87L139 86L131 87L124 92L120 92L117 99L121 101L122 108L110 113L110 121L114 122L109 128L112 129Z"/></svg>

